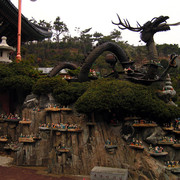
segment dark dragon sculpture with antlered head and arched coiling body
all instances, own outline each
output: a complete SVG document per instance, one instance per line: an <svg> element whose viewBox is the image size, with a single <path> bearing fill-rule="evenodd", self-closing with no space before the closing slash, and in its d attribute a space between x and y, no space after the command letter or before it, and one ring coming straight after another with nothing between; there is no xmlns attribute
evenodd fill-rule
<svg viewBox="0 0 180 180"><path fill-rule="evenodd" d="M156 49L153 37L156 32L170 30L170 26L180 25L180 22L175 23L175 24L167 24L166 20L169 17L160 16L157 18L153 18L151 21L146 22L143 26L141 26L138 23L137 27L134 28L130 26L130 23L128 20L122 21L119 15L117 16L118 16L119 22L118 23L112 22L112 23L115 25L118 25L120 29L122 30L129 29L131 31L140 32L141 40L146 43L149 59L151 60L150 63L146 65L147 71L144 72L141 70L136 70L133 65L134 62L129 60L129 57L127 56L127 54L117 43L106 42L97 46L87 56L84 63L82 64L82 67L78 76L78 81L83 82L83 81L89 80L88 74L89 74L92 64L105 51L110 51L111 53L113 53L113 56L115 57L113 60L113 68L115 67L115 63L117 62L117 60L119 60L124 70L127 70L125 71L126 72L125 77L127 79L131 81L135 81L137 83L143 83L143 84L151 84L152 82L163 80L168 70L171 67L176 67L175 59L177 58L177 55L175 54L171 55L168 67L164 70L162 74L159 75L158 74L158 68L159 68L158 53L157 53L157 49ZM62 64L57 65L52 70L52 72L50 72L50 76L54 76L55 74L57 74L57 72L60 71L62 67L65 67L65 66L62 66ZM68 64L68 67L76 68L73 64L72 65ZM115 76L115 77L118 77L118 76Z"/></svg>

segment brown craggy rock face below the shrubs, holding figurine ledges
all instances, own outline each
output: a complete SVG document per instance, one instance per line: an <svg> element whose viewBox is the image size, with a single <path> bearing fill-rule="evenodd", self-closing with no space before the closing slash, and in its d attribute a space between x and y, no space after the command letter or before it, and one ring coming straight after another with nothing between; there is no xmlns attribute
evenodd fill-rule
<svg viewBox="0 0 180 180"><path fill-rule="evenodd" d="M141 139L145 149L132 149L129 147L132 137L123 139L124 122L111 124L107 113L95 114L91 118L71 108L72 110L47 111L25 107L22 116L31 120L31 124L1 122L0 133L7 134L8 141L18 141L21 134L40 137L33 142L21 143L20 149L13 152L14 163L46 166L49 172L56 174L89 175L93 167L104 166L128 169L128 179L132 180L177 178L177 175L166 169L164 162L179 160L178 149L164 146L169 152L166 157L151 157L148 153L149 143L156 144L157 137L166 134L162 128L133 128L133 137ZM77 124L82 131L39 128L41 124L48 123ZM132 124L131 120L125 123ZM107 145L107 140L112 144ZM59 145L64 146L61 152L58 151ZM3 150L4 144L1 143L0 147Z"/></svg>

